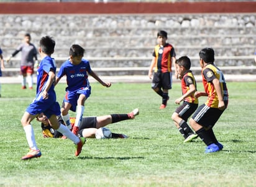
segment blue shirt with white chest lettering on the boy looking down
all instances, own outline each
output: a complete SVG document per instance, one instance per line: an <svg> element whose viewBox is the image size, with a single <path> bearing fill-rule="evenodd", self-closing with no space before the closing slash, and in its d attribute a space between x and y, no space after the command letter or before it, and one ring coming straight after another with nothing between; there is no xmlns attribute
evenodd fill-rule
<svg viewBox="0 0 256 187"><path fill-rule="evenodd" d="M88 73L91 72L91 66L89 61L82 59L81 63L78 65L72 64L69 60L65 61L60 67L60 72L58 72L58 78L66 76L66 91L73 92L75 90L89 87Z"/></svg>

